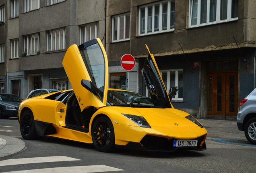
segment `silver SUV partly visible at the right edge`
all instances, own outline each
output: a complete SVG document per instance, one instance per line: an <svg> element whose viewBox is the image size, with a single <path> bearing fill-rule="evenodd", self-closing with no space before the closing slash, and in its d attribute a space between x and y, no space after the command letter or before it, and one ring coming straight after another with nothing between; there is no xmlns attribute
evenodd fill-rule
<svg viewBox="0 0 256 173"><path fill-rule="evenodd" d="M256 89L241 101L237 127L244 131L250 143L256 145Z"/></svg>

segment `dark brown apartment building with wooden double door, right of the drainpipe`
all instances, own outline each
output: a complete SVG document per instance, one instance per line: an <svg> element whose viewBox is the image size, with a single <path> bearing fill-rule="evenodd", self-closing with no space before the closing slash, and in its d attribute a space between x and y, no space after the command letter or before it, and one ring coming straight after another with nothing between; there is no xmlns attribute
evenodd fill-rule
<svg viewBox="0 0 256 173"><path fill-rule="evenodd" d="M110 83L115 73L120 78L126 75L119 61L130 53L137 67L128 72L128 81L132 82L128 89L147 95L140 72L147 44L167 90L179 87L172 99L175 108L197 118L236 119L240 100L255 88L254 1L107 2ZM112 83L110 86L115 86Z"/></svg>

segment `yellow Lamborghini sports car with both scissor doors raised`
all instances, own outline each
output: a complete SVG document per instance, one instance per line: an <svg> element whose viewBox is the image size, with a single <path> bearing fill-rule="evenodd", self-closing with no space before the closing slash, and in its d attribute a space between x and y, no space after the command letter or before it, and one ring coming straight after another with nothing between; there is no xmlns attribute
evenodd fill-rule
<svg viewBox="0 0 256 173"><path fill-rule="evenodd" d="M107 88L107 55L99 38L70 46L62 64L73 89L20 104L18 119L24 139L46 135L90 143L102 152L116 147L206 149L206 129L188 113L173 108L170 100L178 88L167 93L150 51L142 76L151 98Z"/></svg>

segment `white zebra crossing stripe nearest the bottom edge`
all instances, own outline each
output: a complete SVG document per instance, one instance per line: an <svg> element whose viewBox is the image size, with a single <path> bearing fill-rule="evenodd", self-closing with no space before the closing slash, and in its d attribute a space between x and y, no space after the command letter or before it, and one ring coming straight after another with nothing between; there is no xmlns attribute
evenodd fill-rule
<svg viewBox="0 0 256 173"><path fill-rule="evenodd" d="M5 173L95 173L95 172L108 172L108 171L124 171L114 167L105 165L89 165L89 166L76 166L76 167L56 167L44 169L31 169L23 171L11 171Z"/></svg>

